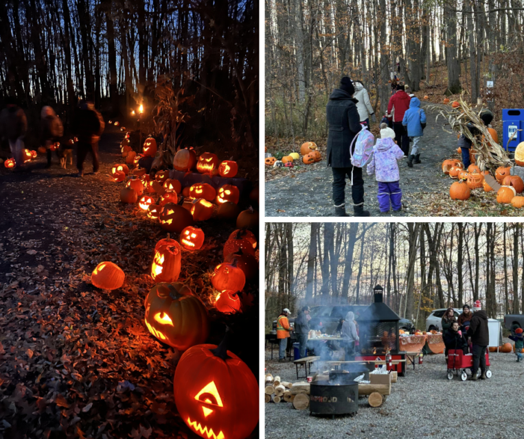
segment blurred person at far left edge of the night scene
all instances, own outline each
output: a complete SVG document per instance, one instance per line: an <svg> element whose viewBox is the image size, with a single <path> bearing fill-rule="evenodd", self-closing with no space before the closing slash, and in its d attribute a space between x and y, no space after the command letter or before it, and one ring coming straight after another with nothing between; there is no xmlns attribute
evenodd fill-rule
<svg viewBox="0 0 524 439"><path fill-rule="evenodd" d="M0 113L0 137L7 139L9 148L16 164L16 169L23 168L24 137L27 132L27 118L25 112L20 108L16 99L8 97L7 106Z"/></svg>

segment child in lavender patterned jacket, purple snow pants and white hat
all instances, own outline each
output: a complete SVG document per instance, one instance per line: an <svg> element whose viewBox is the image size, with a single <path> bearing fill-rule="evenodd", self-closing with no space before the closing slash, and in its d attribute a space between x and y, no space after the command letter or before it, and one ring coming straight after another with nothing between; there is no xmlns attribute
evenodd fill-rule
<svg viewBox="0 0 524 439"><path fill-rule="evenodd" d="M395 137L394 130L383 128L381 124L380 137L373 147L372 159L367 165L367 174L375 174L378 182L378 205L381 213L389 212L389 203L395 212L402 209L402 190L400 189L397 161L404 157L404 153L391 137ZM391 131L391 133L389 132Z"/></svg>

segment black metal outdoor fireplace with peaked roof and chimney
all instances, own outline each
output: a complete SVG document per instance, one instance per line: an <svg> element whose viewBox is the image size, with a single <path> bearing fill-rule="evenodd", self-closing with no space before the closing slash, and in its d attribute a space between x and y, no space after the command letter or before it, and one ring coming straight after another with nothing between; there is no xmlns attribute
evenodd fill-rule
<svg viewBox="0 0 524 439"><path fill-rule="evenodd" d="M363 355L398 354L398 322L400 317L382 301L382 293L374 294L374 302L356 319Z"/></svg>

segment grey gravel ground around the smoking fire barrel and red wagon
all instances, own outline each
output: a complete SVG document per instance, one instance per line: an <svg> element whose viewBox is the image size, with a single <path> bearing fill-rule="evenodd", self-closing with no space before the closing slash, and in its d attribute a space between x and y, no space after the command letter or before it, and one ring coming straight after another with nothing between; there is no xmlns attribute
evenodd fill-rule
<svg viewBox="0 0 524 439"><path fill-rule="evenodd" d="M266 351L267 372L297 381L293 363L279 364L270 356ZM444 355L426 356L424 364L407 368L406 376L391 385L382 407L369 407L361 398L356 415L334 420L294 410L291 403L264 404L265 437L522 438L524 364L515 360L512 353L491 353L492 378L463 382L448 381Z"/></svg>

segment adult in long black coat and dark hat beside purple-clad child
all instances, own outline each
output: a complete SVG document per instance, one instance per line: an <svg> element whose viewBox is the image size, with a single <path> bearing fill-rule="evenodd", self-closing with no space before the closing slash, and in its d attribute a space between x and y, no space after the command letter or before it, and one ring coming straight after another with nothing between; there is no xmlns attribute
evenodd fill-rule
<svg viewBox="0 0 524 439"><path fill-rule="evenodd" d="M353 138L361 130L360 116L356 109L356 99L353 98L355 88L347 76L340 80L339 88L335 88L326 106L326 117L329 124L328 133L328 166L333 172L333 201L335 215L347 217L345 213L345 177L352 180L351 188L354 215L369 217L364 210L364 180L362 168L351 164L350 145ZM354 148L354 145L353 145Z"/></svg>

